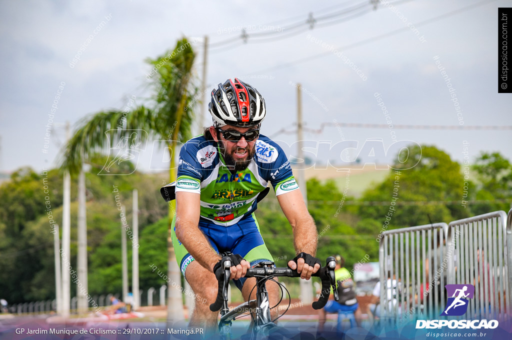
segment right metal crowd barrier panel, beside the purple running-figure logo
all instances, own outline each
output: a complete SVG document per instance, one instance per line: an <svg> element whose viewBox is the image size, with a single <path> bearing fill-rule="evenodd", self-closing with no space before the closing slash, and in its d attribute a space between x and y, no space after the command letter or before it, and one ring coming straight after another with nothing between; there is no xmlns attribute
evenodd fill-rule
<svg viewBox="0 0 512 340"><path fill-rule="evenodd" d="M449 284L472 284L475 298L469 299L463 318L510 318L512 288L512 209L494 211L451 222ZM508 240L507 240L508 239ZM459 317L459 318L461 318Z"/></svg>

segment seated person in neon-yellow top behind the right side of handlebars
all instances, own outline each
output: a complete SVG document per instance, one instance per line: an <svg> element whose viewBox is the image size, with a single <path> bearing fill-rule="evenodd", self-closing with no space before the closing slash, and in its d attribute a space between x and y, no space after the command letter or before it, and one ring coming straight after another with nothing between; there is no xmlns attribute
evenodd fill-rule
<svg viewBox="0 0 512 340"><path fill-rule="evenodd" d="M322 333L324 330L324 324L327 319L327 313L338 313L342 312L354 312L355 320L359 326L360 314L359 304L357 303L355 294L355 284L352 281L352 275L350 271L345 268L345 259L339 254L335 256L336 268L334 269L334 277L336 279L337 291L339 301L334 301L334 295L332 293L329 296L329 301L325 307L318 311L318 329L317 333Z"/></svg>

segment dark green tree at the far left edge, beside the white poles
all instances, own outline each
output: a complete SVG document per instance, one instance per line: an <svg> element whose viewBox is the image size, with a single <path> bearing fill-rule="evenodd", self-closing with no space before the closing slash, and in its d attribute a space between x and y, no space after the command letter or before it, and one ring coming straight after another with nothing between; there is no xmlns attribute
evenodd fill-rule
<svg viewBox="0 0 512 340"><path fill-rule="evenodd" d="M25 302L37 295L32 288L34 275L45 268L47 248L53 249L46 209L48 203L59 204L53 196L56 174L52 171L43 176L23 167L0 186L0 292L9 303ZM40 216L44 231L34 230L30 223ZM46 293L42 296L48 298Z"/></svg>

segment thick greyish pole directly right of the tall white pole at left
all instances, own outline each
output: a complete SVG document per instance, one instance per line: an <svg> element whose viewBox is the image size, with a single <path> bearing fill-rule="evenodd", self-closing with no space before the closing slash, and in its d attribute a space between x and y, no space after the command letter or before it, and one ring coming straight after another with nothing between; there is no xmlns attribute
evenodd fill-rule
<svg viewBox="0 0 512 340"><path fill-rule="evenodd" d="M77 253L77 272L78 280L82 284L80 289L76 289L77 307L80 312L87 312L89 309L89 300L87 299L88 278L87 278L87 216L86 216L86 173L84 164L80 168L78 175L78 253ZM83 289L83 291L82 291ZM85 294L83 293L85 292Z"/></svg>

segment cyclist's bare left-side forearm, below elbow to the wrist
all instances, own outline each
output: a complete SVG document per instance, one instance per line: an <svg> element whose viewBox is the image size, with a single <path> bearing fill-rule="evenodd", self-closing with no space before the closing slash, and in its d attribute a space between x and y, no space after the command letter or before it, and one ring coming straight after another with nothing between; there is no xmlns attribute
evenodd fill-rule
<svg viewBox="0 0 512 340"><path fill-rule="evenodd" d="M186 222L176 223L176 236L200 265L213 271L215 264L220 260L219 254L211 248L197 226Z"/></svg>

